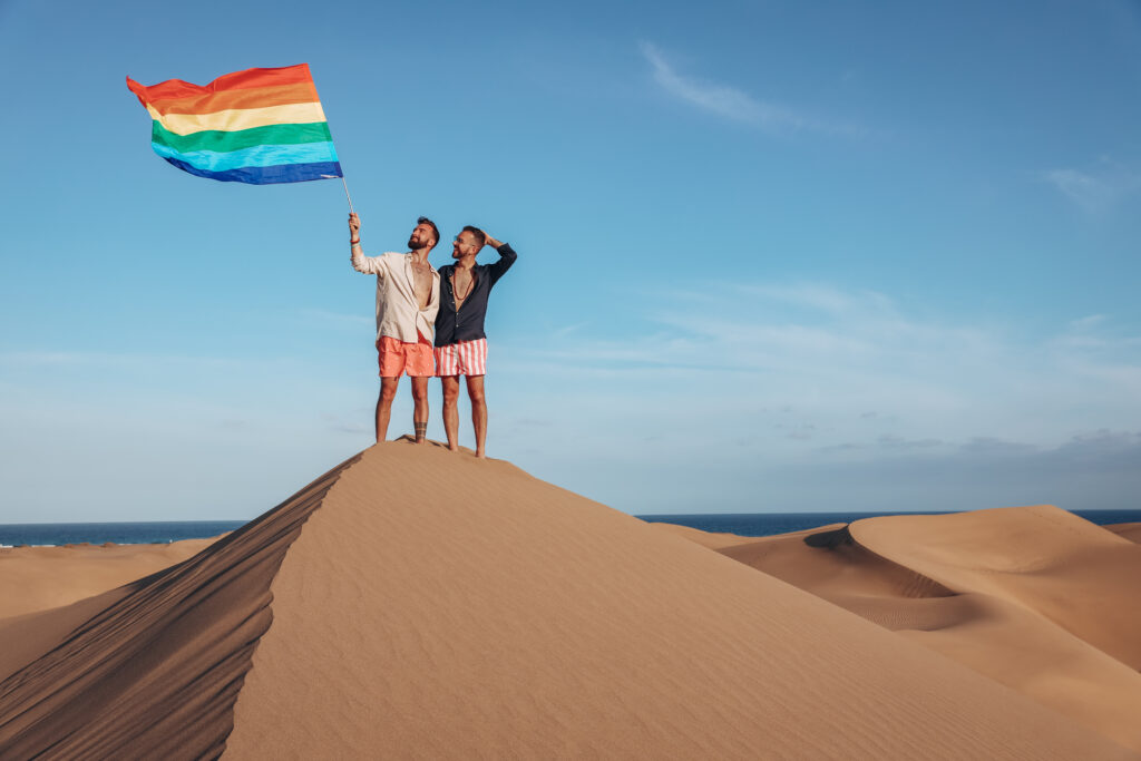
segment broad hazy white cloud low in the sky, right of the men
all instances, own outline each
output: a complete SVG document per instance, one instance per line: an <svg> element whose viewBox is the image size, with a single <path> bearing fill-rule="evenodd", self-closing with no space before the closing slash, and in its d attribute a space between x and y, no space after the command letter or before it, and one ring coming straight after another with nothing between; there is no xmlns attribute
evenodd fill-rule
<svg viewBox="0 0 1141 761"><path fill-rule="evenodd" d="M665 300L645 307L650 330L640 338L552 338L511 359L542 373L552 395L584 400L574 426L615 406L654 434L715 419L774 461L892 442L911 443L896 451L987 438L1051 447L1091 427L1141 429L1141 342L1108 318L1077 319L1075 341L1063 321L1029 338L1017 325L920 318L884 294L819 284L709 283ZM792 419L777 421L771 411L785 408ZM790 431L806 448L788 448Z"/></svg>

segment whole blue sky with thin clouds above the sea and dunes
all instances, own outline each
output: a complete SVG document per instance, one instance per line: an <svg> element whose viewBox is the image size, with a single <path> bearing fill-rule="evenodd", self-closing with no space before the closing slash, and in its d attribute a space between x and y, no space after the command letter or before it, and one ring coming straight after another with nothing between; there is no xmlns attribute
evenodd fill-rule
<svg viewBox="0 0 1141 761"><path fill-rule="evenodd" d="M124 84L302 62L366 252L520 254L491 456L633 513L1141 507L1138 3L319 10L0 2L0 523L248 518L371 443L340 185L179 172Z"/></svg>

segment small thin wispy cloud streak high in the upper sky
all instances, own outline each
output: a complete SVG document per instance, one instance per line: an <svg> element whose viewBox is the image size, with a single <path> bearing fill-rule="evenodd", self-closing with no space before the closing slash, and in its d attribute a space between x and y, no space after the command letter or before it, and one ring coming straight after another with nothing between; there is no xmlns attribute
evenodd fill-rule
<svg viewBox="0 0 1141 761"><path fill-rule="evenodd" d="M761 100L728 84L682 75L657 46L642 41L639 48L653 68L654 81L671 96L702 111L770 131L860 132L849 126L823 122L783 104Z"/></svg>

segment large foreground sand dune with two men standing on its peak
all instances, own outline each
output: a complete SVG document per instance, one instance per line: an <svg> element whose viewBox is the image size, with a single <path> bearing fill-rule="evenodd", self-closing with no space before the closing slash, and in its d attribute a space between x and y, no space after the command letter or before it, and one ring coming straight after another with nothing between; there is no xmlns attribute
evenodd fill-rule
<svg viewBox="0 0 1141 761"><path fill-rule="evenodd" d="M885 594L962 597L881 560ZM0 682L6 758L1133 758L718 551L405 442L16 621L56 641Z"/></svg>

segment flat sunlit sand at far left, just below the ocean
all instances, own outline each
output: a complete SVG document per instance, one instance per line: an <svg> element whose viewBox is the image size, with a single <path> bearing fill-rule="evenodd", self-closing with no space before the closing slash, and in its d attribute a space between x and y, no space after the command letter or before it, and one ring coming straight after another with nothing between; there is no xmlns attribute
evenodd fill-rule
<svg viewBox="0 0 1141 761"><path fill-rule="evenodd" d="M58 608L122 586L213 542L0 548L0 618Z"/></svg>

